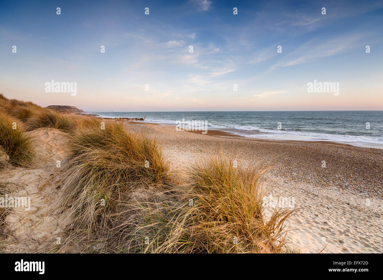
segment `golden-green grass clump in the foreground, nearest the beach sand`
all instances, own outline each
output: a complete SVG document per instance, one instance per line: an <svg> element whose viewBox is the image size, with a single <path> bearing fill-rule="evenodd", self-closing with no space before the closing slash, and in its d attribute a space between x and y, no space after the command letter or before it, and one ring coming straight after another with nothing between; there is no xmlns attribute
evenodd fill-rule
<svg viewBox="0 0 383 280"><path fill-rule="evenodd" d="M141 239L150 236L151 240L150 245L141 245L142 250L281 252L286 221L293 210L266 210L262 206L267 191L261 182L265 171L254 166L236 168L224 156L211 156L193 164L187 172L190 189L184 192L183 202L161 202L160 206L142 211L145 218L135 234L141 234Z"/></svg>

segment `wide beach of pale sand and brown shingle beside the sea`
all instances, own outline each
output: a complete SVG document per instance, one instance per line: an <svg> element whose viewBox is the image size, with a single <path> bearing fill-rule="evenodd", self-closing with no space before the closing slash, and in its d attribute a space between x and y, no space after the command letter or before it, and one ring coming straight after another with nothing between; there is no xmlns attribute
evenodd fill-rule
<svg viewBox="0 0 383 280"><path fill-rule="evenodd" d="M303 252L383 252L383 150L332 142L272 141L218 130L176 131L168 125L128 122L155 136L175 168L223 152L245 164L270 166L270 194L304 206L291 218L290 241ZM322 160L326 168L322 168Z"/></svg>

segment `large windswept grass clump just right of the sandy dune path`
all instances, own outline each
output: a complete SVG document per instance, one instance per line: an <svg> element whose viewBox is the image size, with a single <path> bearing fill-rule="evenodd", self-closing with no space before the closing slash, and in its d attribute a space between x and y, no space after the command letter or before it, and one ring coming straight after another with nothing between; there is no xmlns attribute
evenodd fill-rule
<svg viewBox="0 0 383 280"><path fill-rule="evenodd" d="M71 205L68 225L77 230L105 231L127 194L139 186L169 182L169 164L154 139L127 132L122 124L105 129L77 129L69 140L62 178L62 205Z"/></svg>

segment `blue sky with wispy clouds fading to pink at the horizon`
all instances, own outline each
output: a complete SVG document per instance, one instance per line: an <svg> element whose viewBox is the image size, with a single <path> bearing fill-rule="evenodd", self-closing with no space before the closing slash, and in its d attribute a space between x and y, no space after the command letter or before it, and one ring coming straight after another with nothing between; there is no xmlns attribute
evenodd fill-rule
<svg viewBox="0 0 383 280"><path fill-rule="evenodd" d="M7 98L84 111L383 110L382 1L0 2ZM51 80L77 93L47 93ZM308 93L314 80L339 94Z"/></svg>

